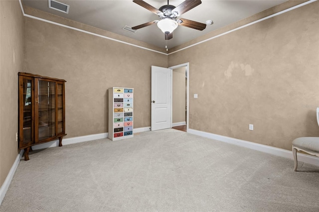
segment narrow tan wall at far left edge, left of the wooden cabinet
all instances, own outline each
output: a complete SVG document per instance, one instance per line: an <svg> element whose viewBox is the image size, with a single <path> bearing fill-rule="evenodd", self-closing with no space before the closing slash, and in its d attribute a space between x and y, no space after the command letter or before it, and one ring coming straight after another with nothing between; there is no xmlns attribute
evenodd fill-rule
<svg viewBox="0 0 319 212"><path fill-rule="evenodd" d="M23 16L19 1L0 0L0 185L17 156L18 75L23 70Z"/></svg>

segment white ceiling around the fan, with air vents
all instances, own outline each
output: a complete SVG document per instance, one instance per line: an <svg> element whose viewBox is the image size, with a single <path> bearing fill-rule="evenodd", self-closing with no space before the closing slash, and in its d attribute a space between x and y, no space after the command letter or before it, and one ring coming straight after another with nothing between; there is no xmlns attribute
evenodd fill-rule
<svg viewBox="0 0 319 212"><path fill-rule="evenodd" d="M63 13L48 8L48 0L22 0L26 6L49 12L61 17L98 27L116 34L141 40L155 46L165 47L164 33L157 24L138 29L132 33L123 30L153 20L159 20L158 15L134 3L132 0L58 0L70 5L69 13ZM167 4L167 0L145 0L156 8ZM207 34L213 30L249 17L260 11L283 3L286 0L202 0L202 3L185 12L180 17L205 23L213 20L203 31L178 26L173 32L173 38L167 41L172 48ZM169 4L177 6L183 0L169 0Z"/></svg>

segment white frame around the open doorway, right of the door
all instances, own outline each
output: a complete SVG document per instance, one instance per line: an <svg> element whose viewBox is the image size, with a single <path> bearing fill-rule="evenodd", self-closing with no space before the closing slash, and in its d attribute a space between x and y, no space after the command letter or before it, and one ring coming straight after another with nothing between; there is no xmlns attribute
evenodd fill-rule
<svg viewBox="0 0 319 212"><path fill-rule="evenodd" d="M185 71L186 71L186 76L187 76L187 79L186 79L186 108L187 108L187 111L186 111L186 132L188 131L188 126L189 126L189 62L187 63L183 63L183 64L179 64L179 65L175 65L175 66L170 66L168 67L171 71L173 69L177 69L177 68L181 68L181 67L185 67ZM173 78L171 77L171 84L170 84L170 87L173 88ZM171 104L171 109L170 109L170 121L171 121L171 126L172 126L172 122L173 122L173 109L172 109L172 106L173 106L173 100L172 100L172 96L173 96L173 91L172 89L170 90L171 94L170 94L170 104Z"/></svg>

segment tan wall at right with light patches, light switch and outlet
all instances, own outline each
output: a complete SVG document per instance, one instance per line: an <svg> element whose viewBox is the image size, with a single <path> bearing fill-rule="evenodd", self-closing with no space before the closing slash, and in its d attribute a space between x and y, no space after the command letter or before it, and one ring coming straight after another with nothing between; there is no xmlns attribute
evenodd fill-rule
<svg viewBox="0 0 319 212"><path fill-rule="evenodd" d="M291 150L319 136L319 2L169 55L189 62L189 128ZM254 124L254 130L248 125Z"/></svg>

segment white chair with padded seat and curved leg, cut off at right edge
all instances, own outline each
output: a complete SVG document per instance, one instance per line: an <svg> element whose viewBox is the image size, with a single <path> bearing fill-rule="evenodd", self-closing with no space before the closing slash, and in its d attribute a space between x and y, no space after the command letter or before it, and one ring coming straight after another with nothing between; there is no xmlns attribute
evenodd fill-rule
<svg viewBox="0 0 319 212"><path fill-rule="evenodd" d="M317 107L317 122L319 125L319 107ZM300 137L293 141L294 171L297 171L298 166L297 150L319 157L319 137Z"/></svg>

